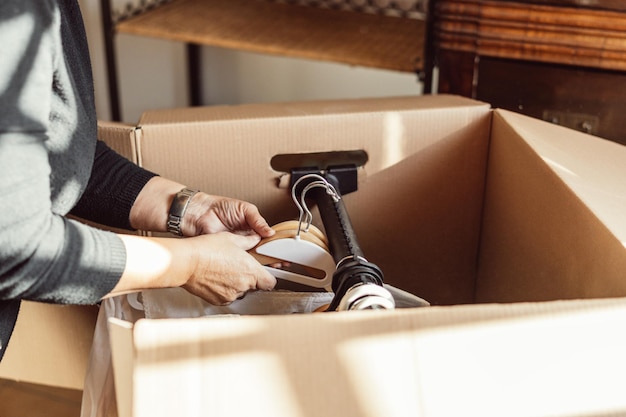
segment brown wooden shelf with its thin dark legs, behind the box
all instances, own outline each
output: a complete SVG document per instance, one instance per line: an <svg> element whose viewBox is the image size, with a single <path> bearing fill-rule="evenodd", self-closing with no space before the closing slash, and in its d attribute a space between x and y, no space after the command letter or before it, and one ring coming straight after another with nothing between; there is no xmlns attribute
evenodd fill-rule
<svg viewBox="0 0 626 417"><path fill-rule="evenodd" d="M119 12L101 0L112 119L118 33L185 43L190 105L202 104L202 45L412 72L429 91L428 1L142 0Z"/></svg>

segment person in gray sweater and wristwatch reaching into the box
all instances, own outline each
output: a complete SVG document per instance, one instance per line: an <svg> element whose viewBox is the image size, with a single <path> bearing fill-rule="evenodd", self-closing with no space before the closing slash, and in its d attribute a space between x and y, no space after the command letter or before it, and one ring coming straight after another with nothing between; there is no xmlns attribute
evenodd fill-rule
<svg viewBox="0 0 626 417"><path fill-rule="evenodd" d="M182 286L227 304L274 287L246 252L274 233L254 205L187 190L97 140L76 0L0 2L0 57L0 359L23 299L93 304Z"/></svg>

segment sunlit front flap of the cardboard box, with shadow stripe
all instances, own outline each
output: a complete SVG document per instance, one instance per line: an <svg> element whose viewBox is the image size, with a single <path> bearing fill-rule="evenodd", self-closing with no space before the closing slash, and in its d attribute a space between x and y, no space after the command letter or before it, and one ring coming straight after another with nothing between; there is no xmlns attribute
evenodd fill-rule
<svg viewBox="0 0 626 417"><path fill-rule="evenodd" d="M625 325L624 300L140 320L133 416L625 412Z"/></svg>

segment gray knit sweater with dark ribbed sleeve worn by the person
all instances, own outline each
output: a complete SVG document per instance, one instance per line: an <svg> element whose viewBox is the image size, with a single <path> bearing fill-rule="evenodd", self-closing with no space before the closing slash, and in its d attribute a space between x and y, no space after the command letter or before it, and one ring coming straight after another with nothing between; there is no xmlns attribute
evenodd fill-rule
<svg viewBox="0 0 626 417"><path fill-rule="evenodd" d="M93 80L76 0L0 1L0 359L20 300L93 304L126 262L130 228L154 175L97 141Z"/></svg>

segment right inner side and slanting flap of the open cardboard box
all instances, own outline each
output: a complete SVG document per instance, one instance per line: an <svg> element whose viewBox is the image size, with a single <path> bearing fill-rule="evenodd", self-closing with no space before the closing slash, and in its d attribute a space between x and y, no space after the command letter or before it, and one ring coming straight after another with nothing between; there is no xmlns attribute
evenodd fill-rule
<svg viewBox="0 0 626 417"><path fill-rule="evenodd" d="M491 136L476 301L626 296L626 148L500 110Z"/></svg>

